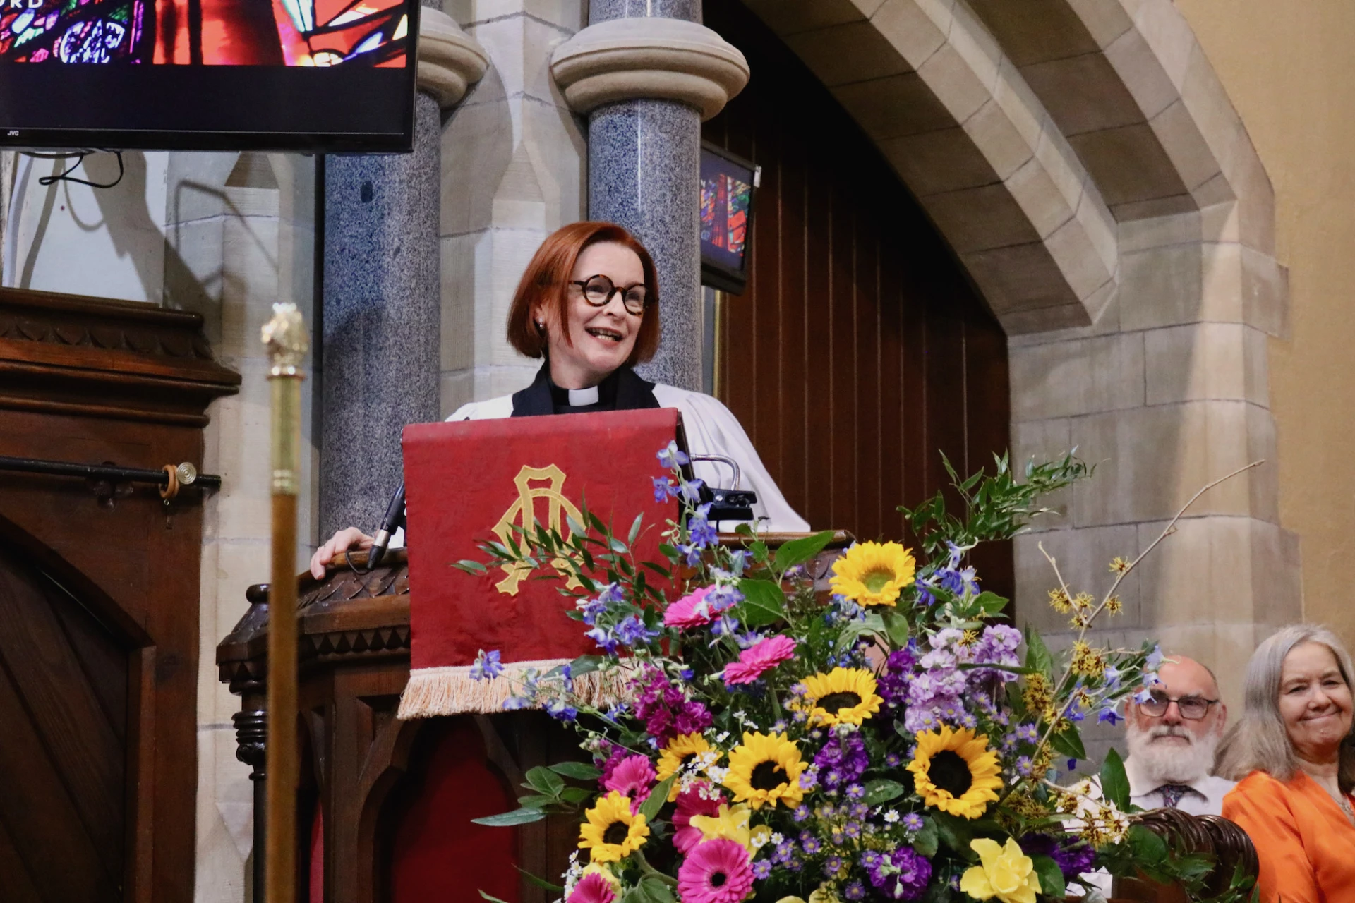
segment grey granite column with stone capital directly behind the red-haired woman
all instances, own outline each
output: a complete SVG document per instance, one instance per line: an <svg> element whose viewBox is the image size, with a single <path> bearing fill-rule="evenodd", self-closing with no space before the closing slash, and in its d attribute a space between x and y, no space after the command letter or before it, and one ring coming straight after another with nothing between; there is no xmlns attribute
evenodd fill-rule
<svg viewBox="0 0 1355 903"><path fill-rule="evenodd" d="M659 271L661 341L641 372L701 389L701 123L748 81L701 0L592 0L551 72L588 114L588 217L621 223Z"/></svg>

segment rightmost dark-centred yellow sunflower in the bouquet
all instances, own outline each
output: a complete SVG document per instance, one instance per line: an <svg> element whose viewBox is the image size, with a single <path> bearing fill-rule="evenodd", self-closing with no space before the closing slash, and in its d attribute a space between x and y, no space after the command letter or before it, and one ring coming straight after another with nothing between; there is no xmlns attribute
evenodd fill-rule
<svg viewBox="0 0 1355 903"><path fill-rule="evenodd" d="M951 731L917 731L917 751L908 764L913 787L923 803L942 812L978 818L997 801L997 753L988 749L988 736L974 736L967 727Z"/></svg>

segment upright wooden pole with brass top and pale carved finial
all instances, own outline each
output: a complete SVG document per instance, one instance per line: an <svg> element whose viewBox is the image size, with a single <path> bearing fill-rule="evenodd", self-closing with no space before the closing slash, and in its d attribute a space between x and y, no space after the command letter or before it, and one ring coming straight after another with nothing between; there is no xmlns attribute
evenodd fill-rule
<svg viewBox="0 0 1355 903"><path fill-rule="evenodd" d="M272 387L272 578L268 586L268 743L266 903L297 895L297 486L301 482L301 380L310 343L293 303L274 305L263 328ZM257 856L257 853L256 853Z"/></svg>

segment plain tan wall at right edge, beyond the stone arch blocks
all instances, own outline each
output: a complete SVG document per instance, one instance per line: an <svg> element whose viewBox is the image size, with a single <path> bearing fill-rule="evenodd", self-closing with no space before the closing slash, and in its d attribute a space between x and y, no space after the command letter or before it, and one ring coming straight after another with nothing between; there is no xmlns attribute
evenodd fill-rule
<svg viewBox="0 0 1355 903"><path fill-rule="evenodd" d="M1355 7L1179 0L1275 187L1289 317L1267 340L1280 520L1304 537L1304 615L1355 644Z"/></svg>

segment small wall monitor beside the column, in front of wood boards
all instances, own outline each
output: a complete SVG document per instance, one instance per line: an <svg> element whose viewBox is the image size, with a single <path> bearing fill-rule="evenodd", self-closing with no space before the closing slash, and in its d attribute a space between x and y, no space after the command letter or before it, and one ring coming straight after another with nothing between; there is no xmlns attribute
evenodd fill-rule
<svg viewBox="0 0 1355 903"><path fill-rule="evenodd" d="M724 148L701 148L701 280L743 294L748 284L753 194L762 168Z"/></svg>

